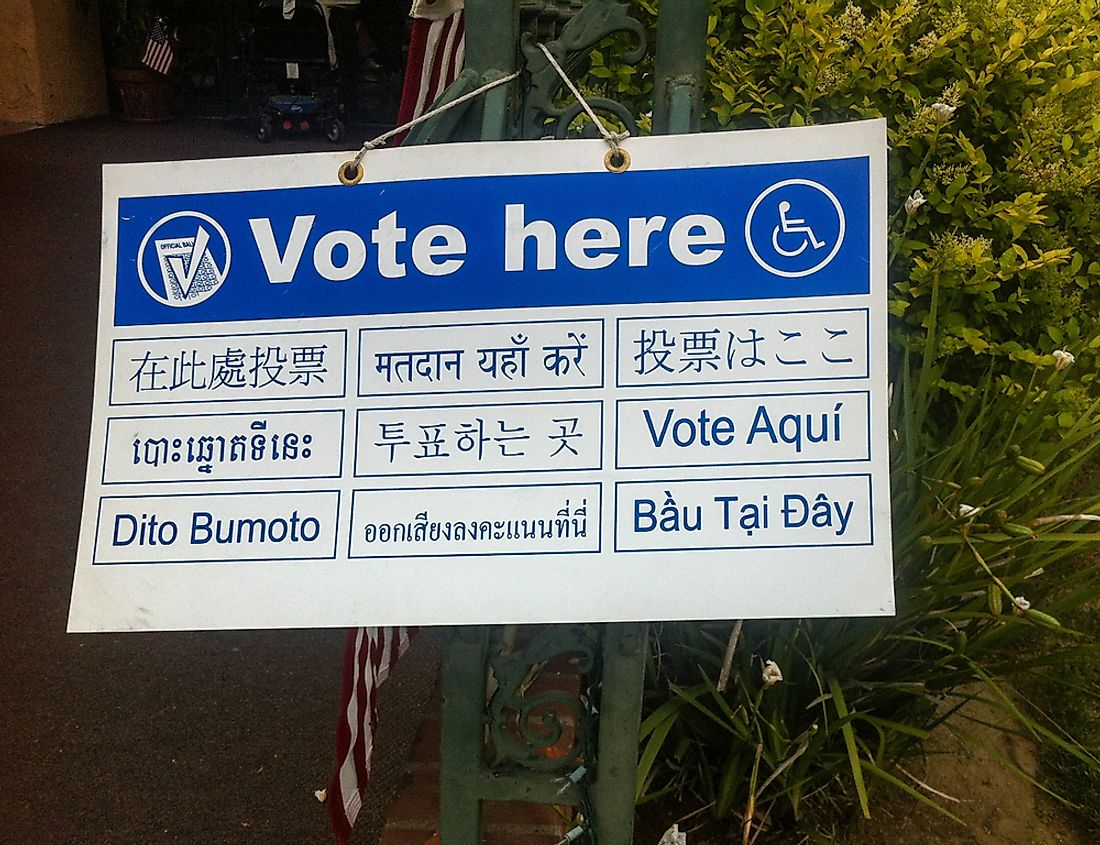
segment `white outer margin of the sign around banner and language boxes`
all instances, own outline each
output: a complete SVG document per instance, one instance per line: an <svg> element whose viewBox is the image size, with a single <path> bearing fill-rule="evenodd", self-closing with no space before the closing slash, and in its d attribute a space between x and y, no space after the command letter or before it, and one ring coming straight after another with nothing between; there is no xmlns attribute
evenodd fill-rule
<svg viewBox="0 0 1100 845"><path fill-rule="evenodd" d="M522 571L517 569L517 556L507 555L424 559L417 561L415 567L403 566L392 559L97 567L90 562L96 520L87 518L86 514L79 538L69 630L614 622L892 613L889 479L886 471L884 135L884 122L864 121L789 130L646 138L627 144L631 169L635 171L820 161L851 155L870 157L871 295L834 297L828 300L827 307L870 308L870 429L876 487L871 516L876 525L875 542L881 549L878 564L868 566L865 560L855 559L850 548L824 547L805 549L798 556L777 556L767 549L730 551L708 559L705 564L701 564L698 552L692 551L661 552L649 557L638 553L605 556L598 567L593 567L583 556L551 555L530 559L536 560L534 563L526 561ZM604 169L604 152L601 141L474 143L378 151L370 153L364 161L365 180L600 173ZM173 194L328 186L336 184L337 169L348 157L348 153L318 153L105 166L99 347L86 511L94 512L101 496L111 338L114 331L112 315L119 200L130 196L154 196L165 186ZM738 308L741 305L745 304L736 304ZM747 307L767 310L774 305L773 300L756 300ZM822 300L817 300L814 307L823 305ZM713 314L716 306L712 303L661 307L676 315L691 315ZM721 307L728 311L730 304L723 303ZM591 314L591 308L554 309L556 319L584 319ZM652 314L652 307L624 307L616 314L646 316ZM451 312L448 321L544 317L546 310L513 309L494 311L492 317L487 312ZM306 319L295 321L295 328L322 330L337 322L332 319ZM372 325L427 326L437 322L439 315L428 314L397 316ZM284 325L285 321L272 321L262 330L277 331ZM188 327L193 332L196 328ZM202 330L211 334L226 333L239 331L240 326L207 323ZM609 330L606 334L605 358L614 360L614 332ZM155 338L158 332L156 327L138 327L128 329L127 337ZM867 384L861 382L859 387ZM702 385L701 388L704 394L715 393L713 385ZM854 388L858 387L854 385ZM614 408L614 381L595 393L604 399L605 408ZM330 406L298 403L294 409L315 407ZM194 414L196 407L185 406L180 413ZM604 414L605 420L614 416L614 413ZM345 417L353 420L355 415L345 414ZM605 459L605 468L607 465ZM726 470L725 474L715 473L714 478L768 474L766 468L760 473L730 473L728 468ZM664 478L684 478L684 472L668 470ZM654 472L652 478L662 476ZM571 478L569 481L584 479ZM610 506L612 486L605 484L605 507ZM318 482L316 489L331 490L333 482ZM341 496L341 500L343 519L351 507L351 496ZM605 520L601 539L603 548L614 545L613 534L612 520Z"/></svg>

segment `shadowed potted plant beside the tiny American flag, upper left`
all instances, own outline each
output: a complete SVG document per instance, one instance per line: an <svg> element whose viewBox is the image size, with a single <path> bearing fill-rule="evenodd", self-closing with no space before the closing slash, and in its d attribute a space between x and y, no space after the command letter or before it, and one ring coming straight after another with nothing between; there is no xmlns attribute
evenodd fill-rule
<svg viewBox="0 0 1100 845"><path fill-rule="evenodd" d="M154 28L167 37L166 3L155 0L100 0L107 75L124 120L153 122L172 117L170 68L144 61ZM169 42L170 46L170 42Z"/></svg>

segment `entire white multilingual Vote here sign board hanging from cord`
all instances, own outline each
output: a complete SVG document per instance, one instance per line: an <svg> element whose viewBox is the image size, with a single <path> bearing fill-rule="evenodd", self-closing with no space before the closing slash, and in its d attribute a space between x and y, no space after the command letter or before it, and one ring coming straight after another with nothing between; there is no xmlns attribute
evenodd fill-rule
<svg viewBox="0 0 1100 845"><path fill-rule="evenodd" d="M70 630L893 610L886 130L108 165Z"/></svg>

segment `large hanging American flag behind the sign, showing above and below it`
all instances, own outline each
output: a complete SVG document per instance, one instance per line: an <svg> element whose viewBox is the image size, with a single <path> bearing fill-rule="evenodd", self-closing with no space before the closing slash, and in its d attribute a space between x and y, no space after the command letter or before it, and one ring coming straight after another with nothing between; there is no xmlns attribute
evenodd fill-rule
<svg viewBox="0 0 1100 845"><path fill-rule="evenodd" d="M422 15L422 17L421 17ZM397 124L420 117L462 72L465 23L461 0L416 2ZM407 134L407 133L405 133ZM404 141L405 134L395 143ZM405 654L416 628L352 628L343 660L343 698L337 725L337 768L326 801L332 831L346 845L363 806L378 725L378 687Z"/></svg>

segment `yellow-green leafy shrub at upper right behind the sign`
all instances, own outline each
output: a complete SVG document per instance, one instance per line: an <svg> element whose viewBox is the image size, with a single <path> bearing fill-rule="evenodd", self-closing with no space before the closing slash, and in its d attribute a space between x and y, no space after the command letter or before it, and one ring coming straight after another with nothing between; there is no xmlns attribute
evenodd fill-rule
<svg viewBox="0 0 1100 845"><path fill-rule="evenodd" d="M1086 364L1059 397L1068 425L1100 347L1094 0L711 8L721 127L887 118L894 344L920 348L935 315L938 377L955 393L982 359L1068 348Z"/></svg>

